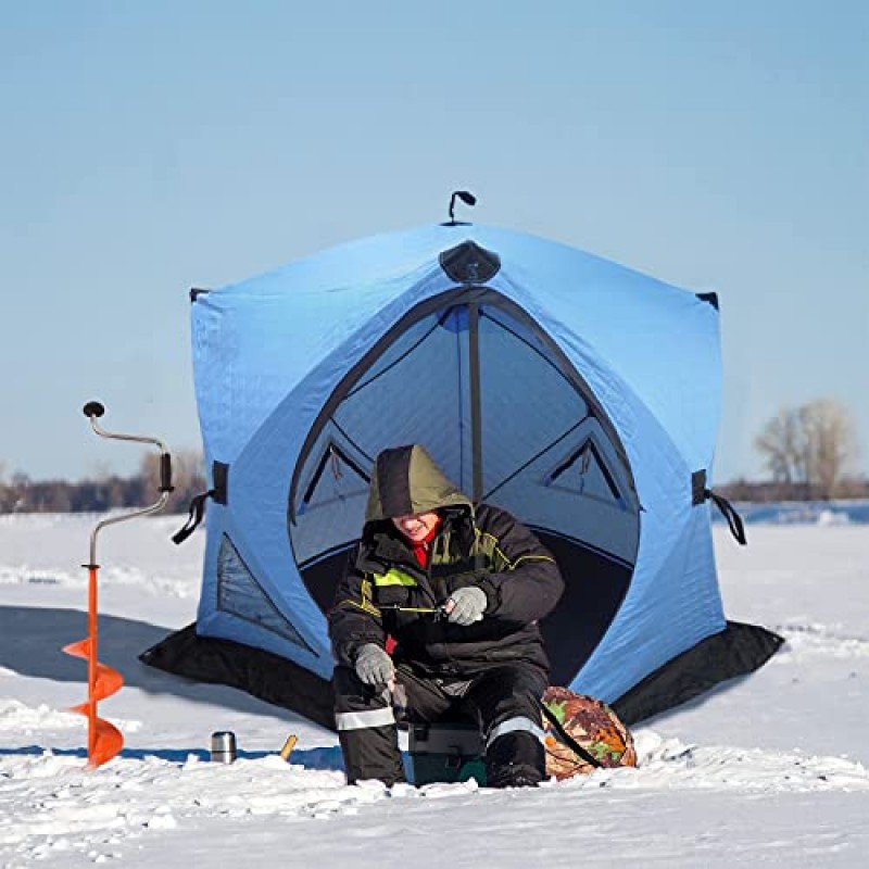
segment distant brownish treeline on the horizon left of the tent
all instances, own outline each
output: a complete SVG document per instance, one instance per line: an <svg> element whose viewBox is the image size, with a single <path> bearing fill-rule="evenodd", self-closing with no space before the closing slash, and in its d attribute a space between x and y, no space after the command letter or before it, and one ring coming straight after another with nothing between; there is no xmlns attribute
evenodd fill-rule
<svg viewBox="0 0 869 869"><path fill-rule="evenodd" d="M0 513L102 513L114 507L153 504L159 492L159 457L149 455L130 477L109 476L97 480L30 480L15 474L0 480ZM202 457L192 452L173 453L172 482L175 487L165 507L185 513L193 495L205 491Z"/></svg>

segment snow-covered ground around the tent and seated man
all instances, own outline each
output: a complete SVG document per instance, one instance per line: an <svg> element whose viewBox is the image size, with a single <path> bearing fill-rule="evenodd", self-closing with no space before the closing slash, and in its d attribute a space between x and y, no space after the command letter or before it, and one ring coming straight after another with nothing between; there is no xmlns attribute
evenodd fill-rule
<svg viewBox="0 0 869 869"><path fill-rule="evenodd" d="M495 792L349 788L331 733L140 664L196 618L203 536L174 546L179 517L100 537L100 658L126 681L100 713L126 746L87 769L85 665L60 650L86 633L96 518L0 516L0 864L869 865L869 526L803 519L747 547L715 527L728 616L788 640L765 668L635 728L637 769ZM235 764L207 759L214 730Z"/></svg>

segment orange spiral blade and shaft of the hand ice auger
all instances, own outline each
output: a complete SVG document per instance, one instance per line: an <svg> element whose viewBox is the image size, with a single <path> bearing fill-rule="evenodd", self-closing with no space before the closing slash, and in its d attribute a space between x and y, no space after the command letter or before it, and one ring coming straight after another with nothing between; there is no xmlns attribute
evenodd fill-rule
<svg viewBox="0 0 869 869"><path fill-rule="evenodd" d="M63 647L67 655L88 663L88 698L70 711L88 719L88 765L98 767L124 747L124 736L111 721L97 715L97 703L121 690L124 677L97 660L97 567L88 565L88 637Z"/></svg>

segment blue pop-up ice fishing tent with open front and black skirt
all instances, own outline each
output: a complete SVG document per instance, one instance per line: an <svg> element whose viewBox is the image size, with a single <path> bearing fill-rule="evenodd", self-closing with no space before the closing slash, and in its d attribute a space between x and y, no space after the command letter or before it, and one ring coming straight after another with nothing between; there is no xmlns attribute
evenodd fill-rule
<svg viewBox="0 0 869 869"><path fill-rule="evenodd" d="M416 442L558 559L554 684L639 720L778 646L719 594L714 294L451 221L191 295L204 579L196 625L147 663L328 725L324 613L376 454Z"/></svg>

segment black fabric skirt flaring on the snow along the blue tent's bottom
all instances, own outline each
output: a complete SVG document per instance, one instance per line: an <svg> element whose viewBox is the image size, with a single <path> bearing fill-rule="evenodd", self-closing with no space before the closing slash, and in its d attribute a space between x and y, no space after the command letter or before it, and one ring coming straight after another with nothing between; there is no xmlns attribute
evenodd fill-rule
<svg viewBox="0 0 869 869"><path fill-rule="evenodd" d="M626 725L635 725L726 680L753 672L783 642L766 628L729 621L723 631L677 655L610 705ZM196 625L188 625L151 646L139 659L198 682L237 688L335 730L331 682L272 652L200 637Z"/></svg>

